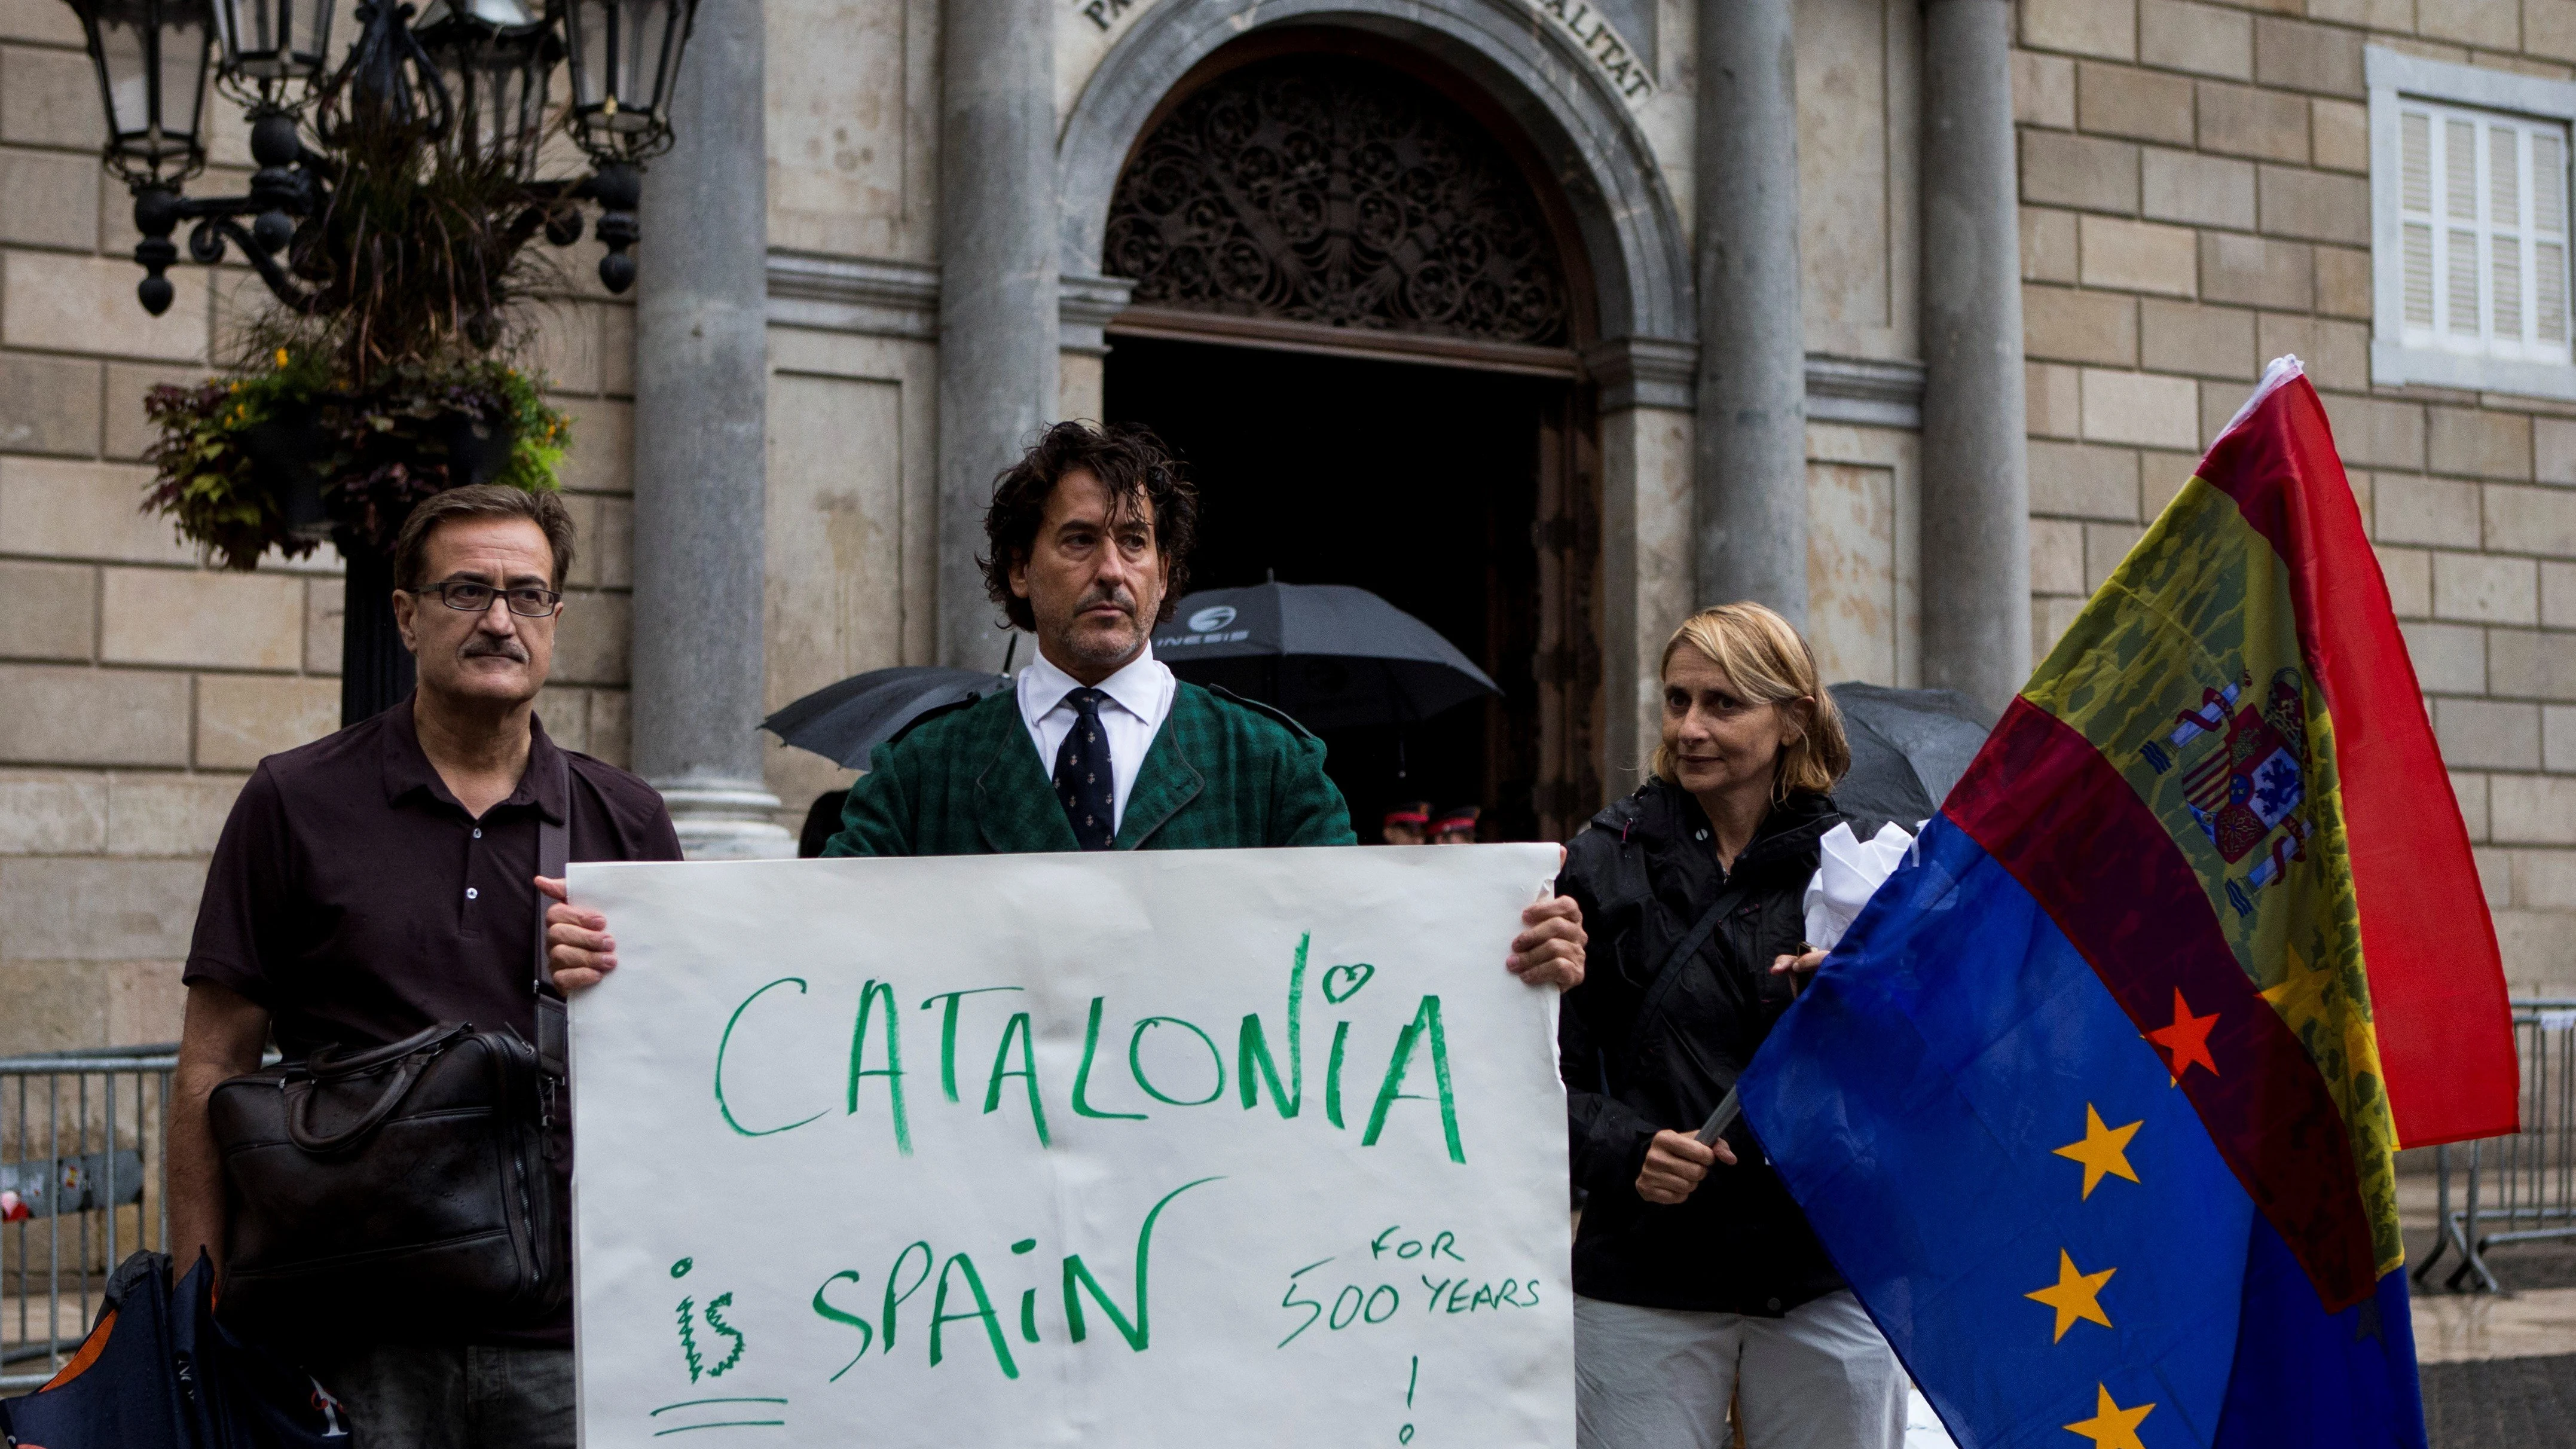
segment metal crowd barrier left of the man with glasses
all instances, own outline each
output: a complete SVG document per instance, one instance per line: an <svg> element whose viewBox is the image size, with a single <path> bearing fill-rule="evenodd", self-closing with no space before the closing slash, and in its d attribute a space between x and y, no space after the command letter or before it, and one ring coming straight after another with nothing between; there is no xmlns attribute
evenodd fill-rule
<svg viewBox="0 0 2576 1449"><path fill-rule="evenodd" d="M54 1377L108 1274L170 1241L178 1045L0 1058L0 1395Z"/></svg>

